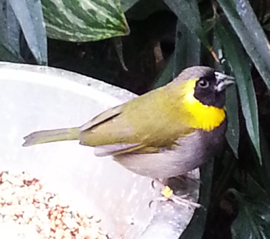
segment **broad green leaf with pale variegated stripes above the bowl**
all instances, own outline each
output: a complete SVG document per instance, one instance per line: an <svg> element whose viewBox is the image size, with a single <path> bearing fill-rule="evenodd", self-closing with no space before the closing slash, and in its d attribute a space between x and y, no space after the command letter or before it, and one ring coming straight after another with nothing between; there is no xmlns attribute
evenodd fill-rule
<svg viewBox="0 0 270 239"><path fill-rule="evenodd" d="M129 34L119 0L42 0L49 38L86 42Z"/></svg>

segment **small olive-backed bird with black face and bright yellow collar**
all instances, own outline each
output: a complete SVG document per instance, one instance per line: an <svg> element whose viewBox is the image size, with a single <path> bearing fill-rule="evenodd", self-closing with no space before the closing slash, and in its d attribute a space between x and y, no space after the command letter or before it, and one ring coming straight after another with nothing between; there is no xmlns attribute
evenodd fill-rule
<svg viewBox="0 0 270 239"><path fill-rule="evenodd" d="M168 179L202 165L222 148L225 89L234 83L207 66L185 69L166 86L95 116L79 127L43 130L23 146L79 140L132 172Z"/></svg>

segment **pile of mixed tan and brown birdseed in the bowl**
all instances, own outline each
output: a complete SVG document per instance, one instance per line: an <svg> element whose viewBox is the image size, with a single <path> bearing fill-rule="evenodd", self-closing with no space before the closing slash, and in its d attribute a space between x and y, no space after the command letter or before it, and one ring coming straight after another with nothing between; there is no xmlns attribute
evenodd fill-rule
<svg viewBox="0 0 270 239"><path fill-rule="evenodd" d="M100 219L73 211L26 173L0 173L0 239L107 239Z"/></svg>

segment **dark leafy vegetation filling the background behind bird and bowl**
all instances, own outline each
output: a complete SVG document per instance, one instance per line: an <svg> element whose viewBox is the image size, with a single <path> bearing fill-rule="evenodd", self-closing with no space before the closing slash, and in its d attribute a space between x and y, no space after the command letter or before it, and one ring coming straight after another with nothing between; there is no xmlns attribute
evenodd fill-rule
<svg viewBox="0 0 270 239"><path fill-rule="evenodd" d="M2 61L137 94L195 64L235 77L228 144L202 168L204 207L181 238L270 238L269 31L269 0L0 0Z"/></svg>

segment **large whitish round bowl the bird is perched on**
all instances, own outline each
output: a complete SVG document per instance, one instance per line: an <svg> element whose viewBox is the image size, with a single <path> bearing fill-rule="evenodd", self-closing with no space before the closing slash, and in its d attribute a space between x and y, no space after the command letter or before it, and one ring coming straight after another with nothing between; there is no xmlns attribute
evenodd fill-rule
<svg viewBox="0 0 270 239"><path fill-rule="evenodd" d="M111 157L95 157L93 148L76 141L21 146L30 132L79 126L132 97L127 90L79 74L1 62L1 170L24 170L39 178L76 209L100 217L113 239L178 238L194 209L173 202L149 208L149 201L160 196L151 179L129 172Z"/></svg>

